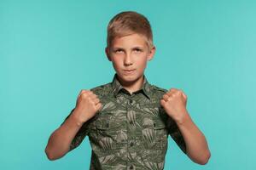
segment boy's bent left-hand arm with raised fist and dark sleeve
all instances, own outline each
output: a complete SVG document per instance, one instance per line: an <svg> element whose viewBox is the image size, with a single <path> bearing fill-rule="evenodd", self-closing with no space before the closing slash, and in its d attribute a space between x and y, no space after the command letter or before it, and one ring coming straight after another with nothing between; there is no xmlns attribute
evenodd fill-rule
<svg viewBox="0 0 256 170"><path fill-rule="evenodd" d="M49 137L44 150L49 160L59 159L79 145L86 135L86 132L84 133L85 122L89 122L90 118L95 116L101 107L100 99L92 91L82 90L80 92L75 109L61 127L57 128ZM83 129L83 125L85 129Z"/></svg>

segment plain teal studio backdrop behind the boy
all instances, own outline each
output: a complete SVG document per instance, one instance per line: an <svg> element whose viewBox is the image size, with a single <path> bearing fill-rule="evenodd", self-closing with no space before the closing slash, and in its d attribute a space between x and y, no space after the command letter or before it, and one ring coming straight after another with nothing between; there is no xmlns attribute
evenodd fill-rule
<svg viewBox="0 0 256 170"><path fill-rule="evenodd" d="M0 1L0 169L89 169L88 137L56 161L44 148L81 89L112 81L107 25L124 10L152 25L148 81L183 89L212 152L197 165L169 137L165 170L256 169L253 0Z"/></svg>

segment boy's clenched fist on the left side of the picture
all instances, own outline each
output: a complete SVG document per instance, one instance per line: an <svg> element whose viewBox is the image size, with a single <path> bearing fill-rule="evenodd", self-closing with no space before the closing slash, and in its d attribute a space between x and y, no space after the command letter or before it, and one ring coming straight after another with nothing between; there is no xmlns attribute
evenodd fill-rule
<svg viewBox="0 0 256 170"><path fill-rule="evenodd" d="M73 114L79 122L84 123L95 116L101 108L102 103L96 94L90 90L81 90Z"/></svg>

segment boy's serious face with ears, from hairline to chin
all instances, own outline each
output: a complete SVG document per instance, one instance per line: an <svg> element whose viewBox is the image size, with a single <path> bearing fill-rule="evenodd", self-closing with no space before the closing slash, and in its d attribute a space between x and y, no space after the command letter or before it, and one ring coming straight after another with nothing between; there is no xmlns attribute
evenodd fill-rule
<svg viewBox="0 0 256 170"><path fill-rule="evenodd" d="M106 48L108 60L122 82L136 82L143 78L147 62L153 59L155 48L148 48L146 37L131 34L115 37L110 48Z"/></svg>

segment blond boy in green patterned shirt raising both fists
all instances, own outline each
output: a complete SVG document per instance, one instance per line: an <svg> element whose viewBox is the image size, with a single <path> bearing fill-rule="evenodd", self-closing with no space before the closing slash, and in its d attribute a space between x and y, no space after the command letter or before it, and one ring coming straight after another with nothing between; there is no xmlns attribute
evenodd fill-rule
<svg viewBox="0 0 256 170"><path fill-rule="evenodd" d="M113 81L80 92L76 107L49 138L49 160L65 156L88 135L90 169L164 169L170 134L192 161L206 164L211 154L186 110L187 96L154 86L144 75L155 52L148 20L132 11L115 15L107 42Z"/></svg>

